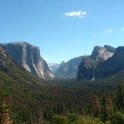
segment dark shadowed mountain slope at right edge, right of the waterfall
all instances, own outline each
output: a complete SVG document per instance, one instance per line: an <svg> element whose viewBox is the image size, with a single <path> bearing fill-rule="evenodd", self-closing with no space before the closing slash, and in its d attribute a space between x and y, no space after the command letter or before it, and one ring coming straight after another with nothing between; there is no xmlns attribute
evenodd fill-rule
<svg viewBox="0 0 124 124"><path fill-rule="evenodd" d="M96 67L96 78L105 78L124 70L124 47L118 47L115 54Z"/></svg>

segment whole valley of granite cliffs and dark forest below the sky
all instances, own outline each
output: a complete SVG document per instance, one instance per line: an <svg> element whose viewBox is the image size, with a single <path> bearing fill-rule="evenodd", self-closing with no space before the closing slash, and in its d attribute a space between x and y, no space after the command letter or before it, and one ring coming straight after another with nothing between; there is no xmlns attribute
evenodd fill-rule
<svg viewBox="0 0 124 124"><path fill-rule="evenodd" d="M123 47L94 47L91 55L52 65L58 66L54 73L35 48L25 42L0 46L1 124L123 124ZM41 60L42 75L53 77L29 70ZM10 121L3 121L5 108Z"/></svg>

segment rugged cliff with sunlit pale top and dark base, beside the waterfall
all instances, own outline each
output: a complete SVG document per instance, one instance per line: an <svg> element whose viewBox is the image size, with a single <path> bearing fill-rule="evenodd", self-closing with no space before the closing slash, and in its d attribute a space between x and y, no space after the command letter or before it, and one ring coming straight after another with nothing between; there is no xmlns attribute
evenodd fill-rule
<svg viewBox="0 0 124 124"><path fill-rule="evenodd" d="M97 65L113 56L115 48L105 45L96 46L90 56L84 57L79 65L77 79L94 80L96 78L95 70Z"/></svg>

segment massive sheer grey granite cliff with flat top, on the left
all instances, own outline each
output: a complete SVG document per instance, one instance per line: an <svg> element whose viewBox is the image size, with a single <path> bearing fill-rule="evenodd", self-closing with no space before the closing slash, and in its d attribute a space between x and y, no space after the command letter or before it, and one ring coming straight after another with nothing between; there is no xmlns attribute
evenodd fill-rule
<svg viewBox="0 0 124 124"><path fill-rule="evenodd" d="M11 58L27 71L43 79L54 77L46 61L40 56L38 47L27 42L8 43L3 46Z"/></svg>

